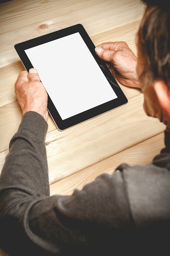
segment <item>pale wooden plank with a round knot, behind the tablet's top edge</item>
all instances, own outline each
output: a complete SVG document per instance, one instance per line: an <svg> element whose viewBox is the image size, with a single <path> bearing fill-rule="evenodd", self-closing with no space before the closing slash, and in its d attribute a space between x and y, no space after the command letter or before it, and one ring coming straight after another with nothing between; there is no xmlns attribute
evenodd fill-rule
<svg viewBox="0 0 170 256"><path fill-rule="evenodd" d="M83 14L79 13L79 10L74 10L71 13L66 13L59 16L56 16L55 13L55 16L51 16L49 20L43 19L42 16L41 21L31 24L29 23L25 26L22 25L22 27L17 27L9 31L7 29L7 31L0 34L0 67L19 61L18 54L14 49L14 45L16 43L48 34L64 27L75 25L76 23L82 23L90 37L101 33L101 31L113 29L113 27L117 27L119 25L126 25L132 21L132 25L134 25L134 20L137 20L139 23L143 12L141 11L141 4L139 4L137 9L135 9L136 5L132 7L132 2L132 0L128 1L126 9L120 4L118 11L116 11L114 15L112 12L110 12L110 8L115 6L112 4L110 7L109 4L104 2L103 6L99 5L99 7L94 6L91 8L90 6L84 8ZM123 11L126 12L126 23L124 22L124 17L120 15L120 13ZM94 43L96 44L97 42Z"/></svg>

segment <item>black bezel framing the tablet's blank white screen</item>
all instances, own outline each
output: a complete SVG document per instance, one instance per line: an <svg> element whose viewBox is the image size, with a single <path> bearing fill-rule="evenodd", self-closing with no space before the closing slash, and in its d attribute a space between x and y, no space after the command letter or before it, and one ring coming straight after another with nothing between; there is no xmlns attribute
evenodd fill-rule
<svg viewBox="0 0 170 256"><path fill-rule="evenodd" d="M111 74L110 70L108 69L105 61L103 61L101 58L97 56L95 53L95 45L93 44L91 38L88 36L86 30L81 24L76 24L71 27L67 27L49 34L46 34L44 36L40 36L37 38L33 38L31 40L27 40L22 43L18 43L14 45L16 52L18 53L24 67L29 72L29 69L33 67L31 62L29 61L29 58L27 57L25 50L29 49L31 47L35 47L37 45L41 45L44 43L47 43L49 41L55 40L57 38L62 38L64 36L68 36L74 33L79 32L79 34L82 36L84 42L86 43L88 49L90 50L91 54L95 58L97 64L99 65L100 69L106 76L106 79L110 83L111 87L113 88L114 92L117 94L117 98L113 99L111 101L108 101L102 105L96 106L95 108L91 108L89 110L86 110L82 113L79 113L73 117L69 117L67 119L62 120L60 117L57 109L55 108L53 102L51 101L50 96L48 95L48 111L53 118L53 121L55 122L57 128L59 130L65 130L71 126L75 126L76 124L82 123L88 119L91 119L93 117L96 117L98 115L101 115L105 112L108 112L114 108L117 108L121 105L124 105L128 102L126 96L122 92L121 88L119 87L117 81Z"/></svg>

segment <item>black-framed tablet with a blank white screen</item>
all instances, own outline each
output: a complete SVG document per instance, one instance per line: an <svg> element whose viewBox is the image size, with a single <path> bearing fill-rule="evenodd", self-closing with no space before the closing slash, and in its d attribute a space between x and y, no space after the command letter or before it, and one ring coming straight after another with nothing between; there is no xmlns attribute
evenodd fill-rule
<svg viewBox="0 0 170 256"><path fill-rule="evenodd" d="M15 46L24 67L34 67L48 94L48 111L59 130L127 103L81 24Z"/></svg>

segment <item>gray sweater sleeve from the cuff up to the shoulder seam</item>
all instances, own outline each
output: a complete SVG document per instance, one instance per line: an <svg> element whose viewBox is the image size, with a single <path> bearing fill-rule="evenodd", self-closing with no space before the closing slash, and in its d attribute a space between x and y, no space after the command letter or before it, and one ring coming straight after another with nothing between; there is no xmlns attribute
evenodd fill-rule
<svg viewBox="0 0 170 256"><path fill-rule="evenodd" d="M103 174L69 196L50 196L47 127L27 112L11 139L0 176L0 247L10 256L106 255L114 241L120 250L132 227L123 173Z"/></svg>

